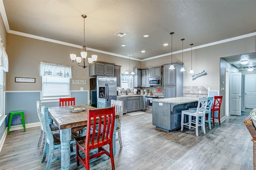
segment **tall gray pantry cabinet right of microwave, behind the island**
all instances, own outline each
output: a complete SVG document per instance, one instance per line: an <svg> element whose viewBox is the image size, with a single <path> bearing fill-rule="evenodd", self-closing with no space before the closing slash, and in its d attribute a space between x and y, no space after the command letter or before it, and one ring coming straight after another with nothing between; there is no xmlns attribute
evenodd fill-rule
<svg viewBox="0 0 256 170"><path fill-rule="evenodd" d="M183 72L180 71L182 63L173 62L175 69L169 69L171 63L163 65L164 98L183 96Z"/></svg>

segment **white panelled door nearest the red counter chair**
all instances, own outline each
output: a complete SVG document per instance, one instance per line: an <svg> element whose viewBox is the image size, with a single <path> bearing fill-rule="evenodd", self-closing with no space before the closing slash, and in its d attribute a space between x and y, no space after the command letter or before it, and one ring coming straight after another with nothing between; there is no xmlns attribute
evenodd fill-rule
<svg viewBox="0 0 256 170"><path fill-rule="evenodd" d="M230 73L230 115L241 116L242 73Z"/></svg>

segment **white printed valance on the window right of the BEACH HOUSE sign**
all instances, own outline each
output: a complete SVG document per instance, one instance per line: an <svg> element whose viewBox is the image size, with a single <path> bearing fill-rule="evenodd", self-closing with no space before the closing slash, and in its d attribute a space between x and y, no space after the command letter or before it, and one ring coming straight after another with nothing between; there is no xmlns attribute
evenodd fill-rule
<svg viewBox="0 0 256 170"><path fill-rule="evenodd" d="M71 67L44 62L40 62L40 75L72 78Z"/></svg>

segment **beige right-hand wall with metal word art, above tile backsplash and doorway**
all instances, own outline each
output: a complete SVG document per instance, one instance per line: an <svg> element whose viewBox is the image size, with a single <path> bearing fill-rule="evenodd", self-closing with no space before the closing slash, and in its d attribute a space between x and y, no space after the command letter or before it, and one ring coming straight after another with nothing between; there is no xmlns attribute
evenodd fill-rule
<svg viewBox="0 0 256 170"><path fill-rule="evenodd" d="M220 58L256 51L256 37L244 38L227 43L221 43L210 47L195 49L192 51L192 68L196 74L205 70L208 75L192 81L189 74L191 69L191 52L183 52L183 62L186 71L184 72L184 86L204 86L211 90L220 89ZM195 45L196 46L196 45ZM182 53L172 55L172 61L182 60ZM156 58L142 62L142 68L170 63L171 56ZM224 80L222 80L224 81Z"/></svg>

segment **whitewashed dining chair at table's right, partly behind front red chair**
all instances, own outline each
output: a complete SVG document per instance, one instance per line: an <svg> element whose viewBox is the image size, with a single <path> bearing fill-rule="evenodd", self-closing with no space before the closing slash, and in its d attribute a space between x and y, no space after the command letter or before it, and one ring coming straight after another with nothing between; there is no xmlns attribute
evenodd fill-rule
<svg viewBox="0 0 256 170"><path fill-rule="evenodd" d="M115 107L115 114L119 115L119 118L117 120L117 127L116 127L116 131L118 132L118 138L116 138L116 141L119 140L120 148L122 148L123 144L122 144L122 138L121 138L121 122L122 122L123 111L124 111L124 101L111 100L111 106Z"/></svg>

